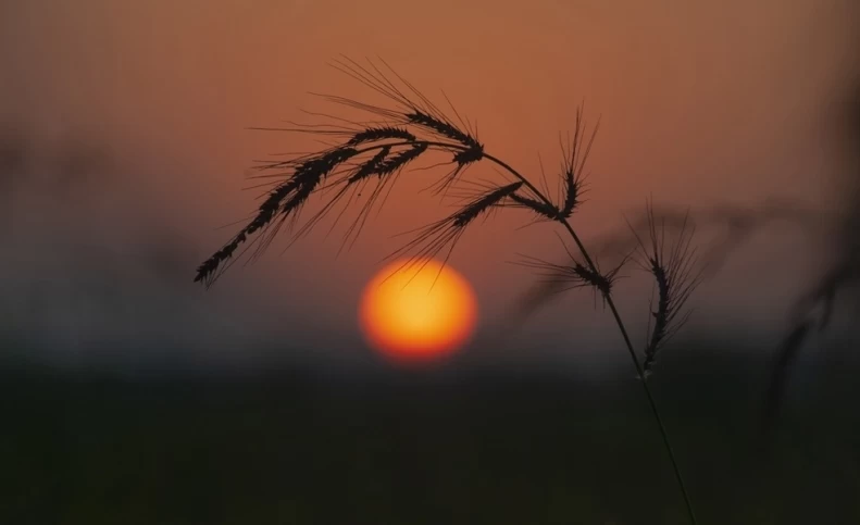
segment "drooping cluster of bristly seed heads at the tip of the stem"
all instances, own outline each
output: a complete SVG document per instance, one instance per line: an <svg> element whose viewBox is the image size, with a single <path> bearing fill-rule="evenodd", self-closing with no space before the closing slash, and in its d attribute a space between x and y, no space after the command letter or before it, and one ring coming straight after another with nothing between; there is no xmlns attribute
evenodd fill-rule
<svg viewBox="0 0 860 525"><path fill-rule="evenodd" d="M262 166L262 170L286 171L288 177L275 185L248 225L198 267L196 282L203 282L210 286L226 270L228 264L224 263L233 259L238 247L246 243L252 235L262 232L262 238L258 236L252 242L257 243L255 254L259 255L272 242L283 224L289 222L291 229L291 225L297 220L298 210L317 191L333 187L338 188L323 208L298 229L294 240L309 233L338 202L346 200L347 207L349 207L358 197L361 197L362 189L372 176L375 175L378 180L376 187L371 191L370 198L362 205L359 218L351 223L347 229L342 249L347 242L350 245L354 242L374 204L379 200L384 203L394 186L396 175L407 164L425 152L434 150L451 155L450 163L453 164L453 168L434 185L436 192L447 190L460 179L469 165L484 158L484 146L477 139L477 134L472 130L468 121L453 109L453 105L451 109L461 125L454 124L453 120L446 116L438 107L387 64L385 66L388 68L388 73L399 80L400 85L372 62L369 66L363 66L345 58L336 61L334 66L382 93L392 101L395 107L383 108L342 97L325 96L329 101L373 113L382 116L384 121L359 123L340 117L329 117L337 123L333 125L299 125L298 128L278 129L342 137L344 141L319 154L272 162ZM316 115L321 114L316 113ZM275 130L273 128L265 129ZM340 178L335 178L334 183L321 184L323 179L333 174L337 166L364 153L372 154L353 168L344 172L346 174ZM340 215L338 215L339 217ZM465 216L460 217L462 226L470 222L466 218ZM456 227L460 227L460 224L458 223Z"/></svg>

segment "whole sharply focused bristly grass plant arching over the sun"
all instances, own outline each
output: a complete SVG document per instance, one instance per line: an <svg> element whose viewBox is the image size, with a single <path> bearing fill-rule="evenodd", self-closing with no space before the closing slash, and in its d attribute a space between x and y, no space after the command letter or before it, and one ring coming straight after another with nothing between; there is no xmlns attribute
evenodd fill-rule
<svg viewBox="0 0 860 525"><path fill-rule="evenodd" d="M448 117L388 64L381 62L382 65L376 65L369 61L365 66L344 58L335 61L333 66L383 95L392 102L391 107L372 105L336 96L321 96L336 104L374 115L377 120L359 122L323 115L334 120L336 124L257 128L308 133L339 139L339 142L315 153L259 166L261 171L275 172L274 175L262 175L274 180L271 183L269 196L260 204L253 218L233 239L200 264L195 282L203 283L207 287L211 286L250 248L254 249L251 257L259 257L285 225L292 234L292 240L306 235L322 217L346 199L344 209L337 217L339 220L350 204L358 202L359 197L365 195L367 186L371 186L370 196L361 204L358 216L347 229L344 246L351 245L371 211L385 203L407 165L425 157L441 155L445 160L424 167L448 167L445 175L428 189L433 189L435 195L448 195L454 188L465 188L464 193L461 195L465 204L445 218L412 232L415 234L414 239L390 257L408 255L406 265L421 264L422 261L439 257L440 253L447 261L466 227L475 224L478 217L506 208L525 210L535 221L560 226L574 245L578 255L574 255L572 249L565 245L570 255L570 261L565 264L550 264L538 259L528 259L524 264L539 270L551 283L563 285L562 289L591 288L609 308L658 424L690 523L695 524L695 513L681 470L657 403L646 382L658 350L685 321L686 316L682 313L682 309L700 280L700 273L695 271L695 250L690 246L693 229L685 227L678 238L670 238L666 236L663 223L658 222L652 208L649 208L648 239L643 240L632 228L632 237L637 242L636 250L623 257L621 263L611 270L602 271L569 221L583 202L585 189L583 171L597 135L597 126L595 126L586 141L587 125L582 108L576 114L573 137L569 137L566 142L562 141L561 145L563 159L558 174L560 190L559 195L553 196L546 184L546 175L543 176L541 190L529 178L487 152L478 137L477 127L462 117L450 101L448 104L454 118ZM504 171L502 176L508 180L471 185L463 180L469 168L481 162L502 168ZM324 201L322 209L307 223L296 227L308 199L317 193L329 197ZM237 249L242 245L245 249L236 254ZM650 313L653 326L649 328L648 342L641 354L631 342L614 302L613 284L619 277L619 272L630 261L635 261L651 274L658 291L656 309Z"/></svg>

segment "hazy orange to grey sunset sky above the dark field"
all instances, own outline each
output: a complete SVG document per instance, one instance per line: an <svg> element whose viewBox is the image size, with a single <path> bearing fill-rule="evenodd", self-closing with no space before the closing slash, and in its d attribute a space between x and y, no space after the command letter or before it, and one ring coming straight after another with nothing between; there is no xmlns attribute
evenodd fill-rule
<svg viewBox="0 0 860 525"><path fill-rule="evenodd" d="M336 258L338 236L321 230L235 266L209 291L191 283L234 233L223 226L253 210L260 192L242 189L252 161L312 146L247 128L313 123L302 110L332 108L310 92L373 100L326 65L340 53L382 57L437 100L444 90L487 151L527 174L539 173L538 154L556 165L558 133L584 102L601 122L574 217L586 239L622 227L648 197L696 209L772 197L832 207L849 165L839 114L856 72L850 5L2 2L3 337L67 362L372 359L356 326L362 288L400 246L392 235L447 213L417 193L417 176L348 253ZM451 259L481 304L469 354L506 362L620 342L587 292L494 337L535 278L506 261L563 254L551 227L516 229L525 222L499 214ZM808 240L759 238L698 290L690 329L776 326L797 275L819 263ZM625 286L622 313L641 328L647 286Z"/></svg>

